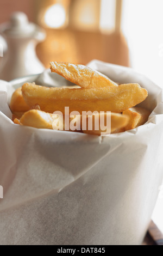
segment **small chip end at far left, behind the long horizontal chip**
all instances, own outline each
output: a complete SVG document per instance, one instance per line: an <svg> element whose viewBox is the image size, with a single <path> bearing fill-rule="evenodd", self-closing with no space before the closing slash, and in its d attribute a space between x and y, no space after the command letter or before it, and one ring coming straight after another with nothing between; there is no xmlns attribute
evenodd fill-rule
<svg viewBox="0 0 163 256"><path fill-rule="evenodd" d="M27 105L26 101L24 101L22 96L22 88L18 88L12 94L11 102L10 102L10 109L12 113L15 112L26 112L30 109Z"/></svg>

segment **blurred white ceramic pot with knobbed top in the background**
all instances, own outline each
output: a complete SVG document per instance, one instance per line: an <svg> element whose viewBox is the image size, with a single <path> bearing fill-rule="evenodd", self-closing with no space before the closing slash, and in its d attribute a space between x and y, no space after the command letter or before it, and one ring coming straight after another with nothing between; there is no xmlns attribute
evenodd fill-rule
<svg viewBox="0 0 163 256"><path fill-rule="evenodd" d="M2 25L0 32L8 45L1 59L0 79L10 81L45 69L35 51L36 45L45 39L45 31L29 23L26 14L12 14L10 23Z"/></svg>

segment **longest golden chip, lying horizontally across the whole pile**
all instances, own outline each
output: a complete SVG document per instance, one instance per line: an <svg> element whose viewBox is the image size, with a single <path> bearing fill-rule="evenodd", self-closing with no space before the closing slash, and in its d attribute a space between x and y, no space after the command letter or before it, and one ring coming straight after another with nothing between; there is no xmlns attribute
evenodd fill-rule
<svg viewBox="0 0 163 256"><path fill-rule="evenodd" d="M148 93L139 84L121 84L117 87L69 89L48 88L24 83L22 95L30 107L38 104L41 111L53 113L65 107L69 111L111 111L121 113L146 99Z"/></svg>

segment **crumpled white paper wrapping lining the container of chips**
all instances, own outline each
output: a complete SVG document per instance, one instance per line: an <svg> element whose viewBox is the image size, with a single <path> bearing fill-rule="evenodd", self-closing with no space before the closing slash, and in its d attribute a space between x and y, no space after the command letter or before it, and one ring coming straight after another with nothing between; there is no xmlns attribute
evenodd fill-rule
<svg viewBox="0 0 163 256"><path fill-rule="evenodd" d="M8 102L23 82L64 86L45 71L0 81L1 245L139 245L162 181L162 89L122 66L89 63L148 90L153 110L137 129L105 137L15 125ZM68 83L70 84L70 83Z"/></svg>

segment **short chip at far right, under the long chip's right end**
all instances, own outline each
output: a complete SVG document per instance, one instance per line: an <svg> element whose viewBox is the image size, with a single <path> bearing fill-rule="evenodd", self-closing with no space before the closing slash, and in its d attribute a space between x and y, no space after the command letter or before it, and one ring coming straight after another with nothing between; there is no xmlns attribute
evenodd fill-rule
<svg viewBox="0 0 163 256"><path fill-rule="evenodd" d="M127 131L145 124L151 112L145 108L132 107L127 109L126 111L123 111L123 114L128 115L129 117L129 123L125 127L125 130Z"/></svg>

